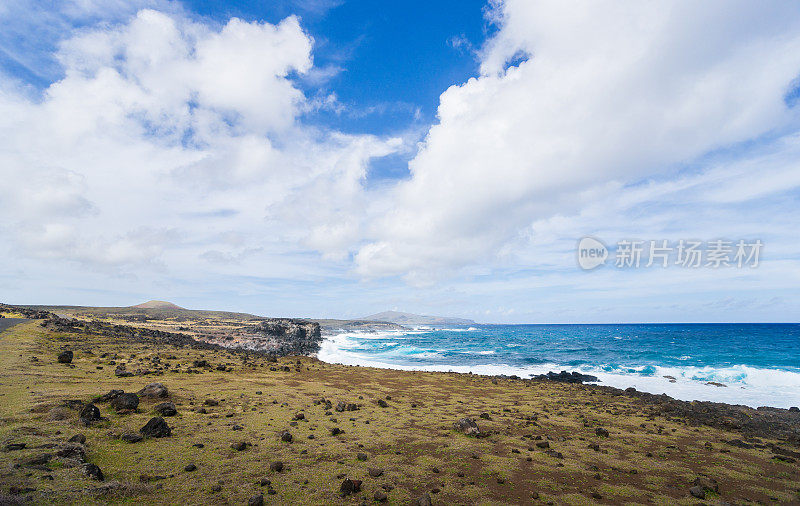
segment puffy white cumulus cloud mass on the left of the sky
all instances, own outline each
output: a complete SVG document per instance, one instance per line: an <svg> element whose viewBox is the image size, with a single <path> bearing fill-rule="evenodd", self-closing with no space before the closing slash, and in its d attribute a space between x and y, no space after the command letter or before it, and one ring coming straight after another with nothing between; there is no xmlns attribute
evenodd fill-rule
<svg viewBox="0 0 800 506"><path fill-rule="evenodd" d="M398 141L300 121L309 100L292 76L312 68L312 43L293 16L218 27L143 9L63 40L64 77L40 97L4 80L7 254L200 270L256 263L265 244L346 249L369 160Z"/></svg>

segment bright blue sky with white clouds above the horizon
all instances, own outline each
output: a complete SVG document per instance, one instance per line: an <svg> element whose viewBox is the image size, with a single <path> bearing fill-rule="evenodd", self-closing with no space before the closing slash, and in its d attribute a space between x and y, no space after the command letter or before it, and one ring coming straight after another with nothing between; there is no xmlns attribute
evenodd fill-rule
<svg viewBox="0 0 800 506"><path fill-rule="evenodd" d="M10 0L0 301L796 322L798 102L793 2Z"/></svg>

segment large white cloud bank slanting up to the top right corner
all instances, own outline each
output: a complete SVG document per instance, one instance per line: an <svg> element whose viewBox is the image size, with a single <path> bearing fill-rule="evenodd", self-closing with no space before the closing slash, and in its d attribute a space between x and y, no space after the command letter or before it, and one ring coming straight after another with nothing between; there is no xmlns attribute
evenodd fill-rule
<svg viewBox="0 0 800 506"><path fill-rule="evenodd" d="M357 252L363 275L490 262L593 189L796 128L795 5L506 0L490 16L481 74L441 95L412 177Z"/></svg>

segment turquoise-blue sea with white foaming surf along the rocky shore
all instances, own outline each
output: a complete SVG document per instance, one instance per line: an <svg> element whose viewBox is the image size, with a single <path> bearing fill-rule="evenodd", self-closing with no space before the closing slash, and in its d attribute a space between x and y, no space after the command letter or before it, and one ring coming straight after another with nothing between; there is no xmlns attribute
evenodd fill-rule
<svg viewBox="0 0 800 506"><path fill-rule="evenodd" d="M521 377L579 371L597 376L603 385L683 400L800 406L800 324L473 325L332 332L319 358Z"/></svg>

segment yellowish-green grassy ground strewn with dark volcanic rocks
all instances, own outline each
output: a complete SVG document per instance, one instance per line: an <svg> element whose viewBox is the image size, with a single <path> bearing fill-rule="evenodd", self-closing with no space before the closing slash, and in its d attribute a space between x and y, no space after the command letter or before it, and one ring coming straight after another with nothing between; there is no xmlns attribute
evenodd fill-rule
<svg viewBox="0 0 800 506"><path fill-rule="evenodd" d="M74 352L71 364L57 362L63 349ZM122 363L151 374L117 377ZM137 433L165 399L142 398L130 413L96 403L105 419L88 427L79 420L74 401L151 382L166 386L177 407L165 417L171 436L120 438ZM338 412L340 401L359 407ZM703 475L718 484L717 492L706 488L706 504L800 502L797 463L725 443L742 439L735 432L647 417L640 402L592 386L308 357L275 363L29 322L0 334L0 503L247 504L263 494L265 503L357 504L377 493L388 504L424 504L427 495L433 504L672 505L697 504L689 489ZM464 417L484 437L456 431ZM104 481L74 459L35 462L76 434ZM278 461L283 469L271 470ZM345 478L361 480L361 491L342 497Z"/></svg>

